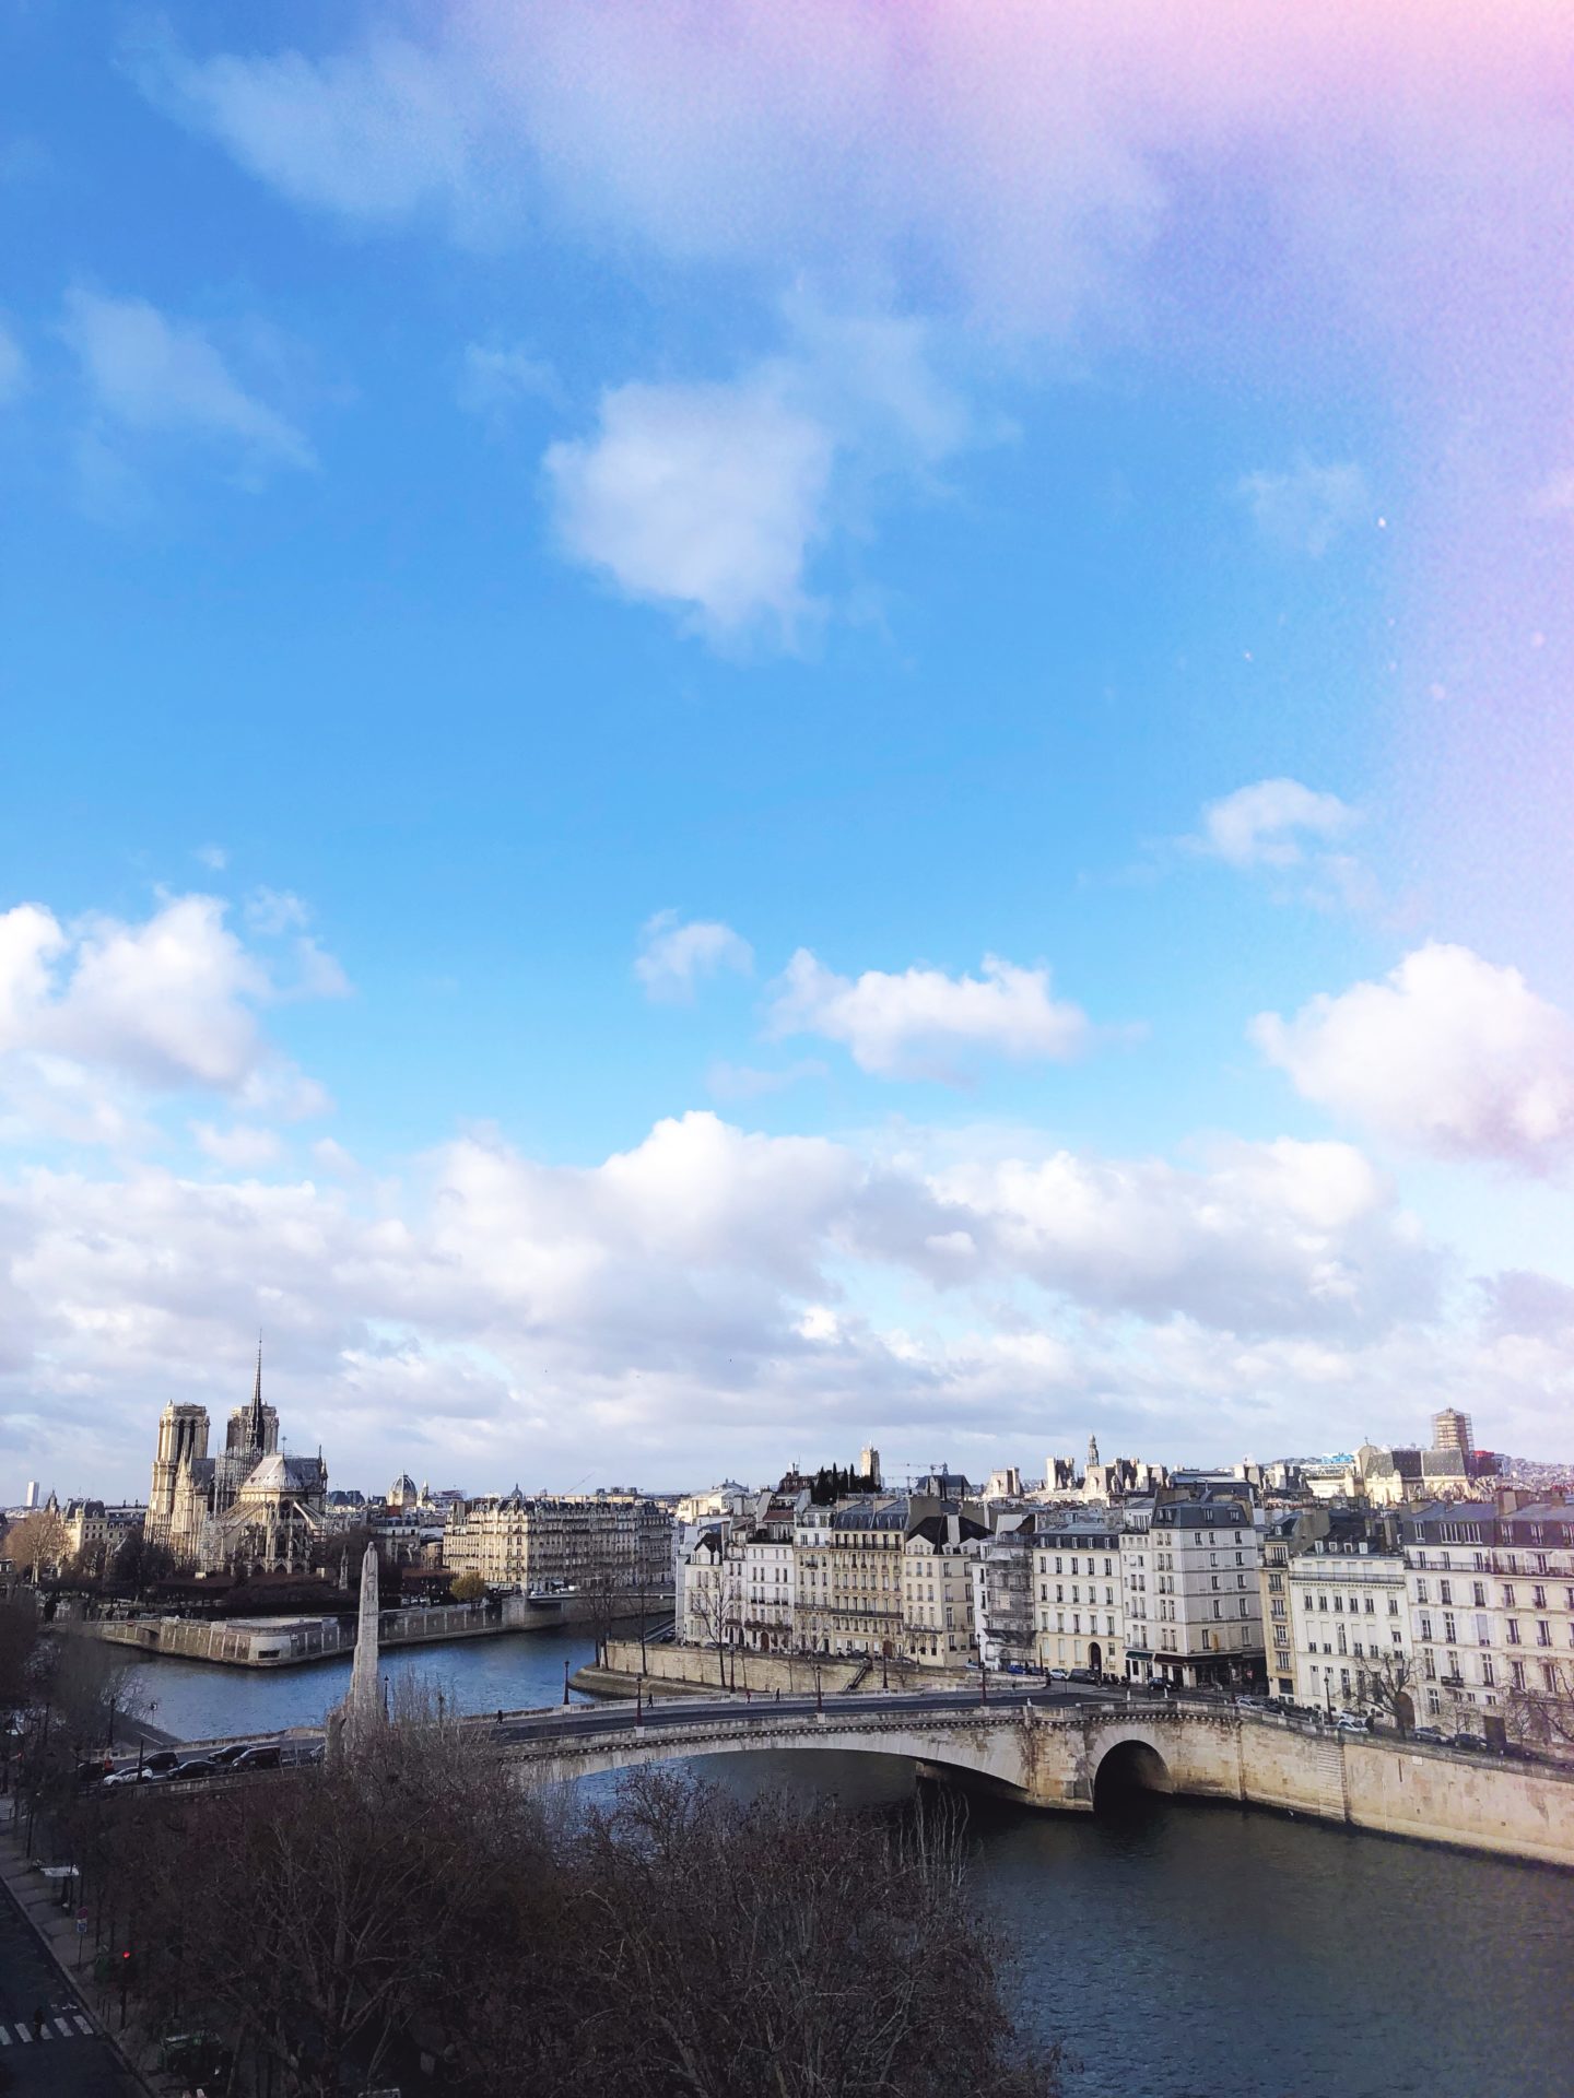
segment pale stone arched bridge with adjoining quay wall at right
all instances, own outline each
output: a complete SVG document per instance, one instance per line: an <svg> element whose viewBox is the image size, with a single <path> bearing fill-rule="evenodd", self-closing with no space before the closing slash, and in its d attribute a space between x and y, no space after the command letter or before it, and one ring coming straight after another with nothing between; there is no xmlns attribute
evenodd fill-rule
<svg viewBox="0 0 1574 2098"><path fill-rule="evenodd" d="M1091 1813L1116 1790L1274 1806L1352 1827L1574 1865L1574 1773L1339 1735L1228 1706L963 1704L575 1708L508 1729L527 1783L758 1750L905 1756L1030 1806Z"/></svg>

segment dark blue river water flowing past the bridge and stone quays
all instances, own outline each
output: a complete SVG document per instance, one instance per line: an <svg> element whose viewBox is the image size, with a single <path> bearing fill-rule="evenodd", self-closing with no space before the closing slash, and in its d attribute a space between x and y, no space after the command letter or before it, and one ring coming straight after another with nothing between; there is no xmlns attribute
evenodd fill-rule
<svg viewBox="0 0 1574 2098"><path fill-rule="evenodd" d="M586 1639L535 1632L390 1655L462 1710L556 1704ZM155 1725L306 1725L348 1662L279 1674L147 1662ZM884 1756L726 1756L732 1787L898 1800ZM970 1802L978 1892L1020 1949L1030 2022L1072 2052L1068 2098L1568 2098L1574 1876L1228 1806L1119 1819Z"/></svg>

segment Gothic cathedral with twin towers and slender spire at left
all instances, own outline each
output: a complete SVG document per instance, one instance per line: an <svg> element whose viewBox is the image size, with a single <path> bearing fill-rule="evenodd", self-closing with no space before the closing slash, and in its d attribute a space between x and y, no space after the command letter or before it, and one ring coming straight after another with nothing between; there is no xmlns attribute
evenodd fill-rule
<svg viewBox="0 0 1574 2098"><path fill-rule="evenodd" d="M204 1574L296 1574L327 1525L327 1469L279 1450L279 1414L262 1404L262 1349L252 1404L229 1416L225 1450L208 1456L208 1408L170 1406L147 1496L147 1538Z"/></svg>

